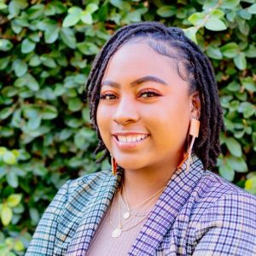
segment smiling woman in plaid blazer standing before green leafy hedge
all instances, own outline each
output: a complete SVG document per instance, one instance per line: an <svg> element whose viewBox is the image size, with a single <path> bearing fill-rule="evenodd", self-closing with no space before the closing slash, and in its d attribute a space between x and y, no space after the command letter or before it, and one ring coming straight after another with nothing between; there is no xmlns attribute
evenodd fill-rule
<svg viewBox="0 0 256 256"><path fill-rule="evenodd" d="M224 121L211 64L182 30L120 28L86 92L113 174L65 183L26 255L255 255L255 197L205 171Z"/></svg>

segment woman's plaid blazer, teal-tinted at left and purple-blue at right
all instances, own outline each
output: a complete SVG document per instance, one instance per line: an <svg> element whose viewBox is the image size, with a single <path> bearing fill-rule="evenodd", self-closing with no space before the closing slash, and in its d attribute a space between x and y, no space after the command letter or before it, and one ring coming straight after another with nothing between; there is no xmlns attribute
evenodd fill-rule
<svg viewBox="0 0 256 256"><path fill-rule="evenodd" d="M204 171L195 155L177 169L129 255L256 255L256 197ZM86 255L122 173L65 183L44 212L26 256Z"/></svg>

